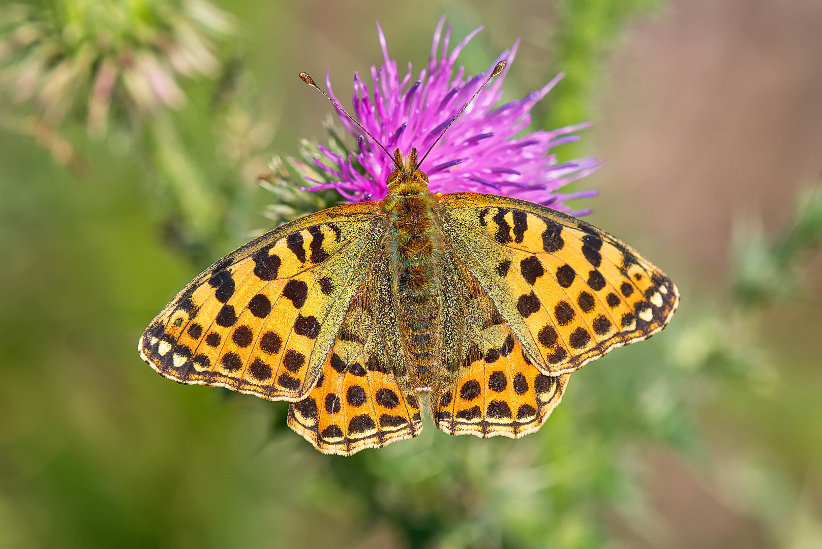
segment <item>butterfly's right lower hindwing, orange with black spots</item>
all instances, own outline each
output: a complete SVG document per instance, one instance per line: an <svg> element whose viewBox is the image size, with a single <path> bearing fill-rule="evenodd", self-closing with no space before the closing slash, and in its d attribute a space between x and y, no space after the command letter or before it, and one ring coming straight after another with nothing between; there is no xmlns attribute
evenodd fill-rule
<svg viewBox="0 0 822 549"><path fill-rule="evenodd" d="M445 357L432 387L436 427L451 435L520 438L537 431L570 378L546 376L529 360L478 280L446 251Z"/></svg>

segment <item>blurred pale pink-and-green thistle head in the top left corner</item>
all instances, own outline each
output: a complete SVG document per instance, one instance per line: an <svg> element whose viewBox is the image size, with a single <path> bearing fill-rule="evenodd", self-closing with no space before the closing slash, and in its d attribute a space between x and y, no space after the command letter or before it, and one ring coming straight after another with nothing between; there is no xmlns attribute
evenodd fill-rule
<svg viewBox="0 0 822 549"><path fill-rule="evenodd" d="M139 126L181 107L179 79L217 76L218 44L231 33L229 16L205 0L12 4L0 13L0 85L36 125L58 131L76 112L90 136L104 136L110 122Z"/></svg>

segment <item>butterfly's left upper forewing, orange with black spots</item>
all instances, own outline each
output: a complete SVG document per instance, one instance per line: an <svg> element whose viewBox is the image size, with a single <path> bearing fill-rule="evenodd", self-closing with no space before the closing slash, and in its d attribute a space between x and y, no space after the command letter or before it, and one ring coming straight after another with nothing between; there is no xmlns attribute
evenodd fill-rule
<svg viewBox="0 0 822 549"><path fill-rule="evenodd" d="M160 375L264 399L302 399L382 238L375 203L275 228L211 265L151 322L138 348Z"/></svg>

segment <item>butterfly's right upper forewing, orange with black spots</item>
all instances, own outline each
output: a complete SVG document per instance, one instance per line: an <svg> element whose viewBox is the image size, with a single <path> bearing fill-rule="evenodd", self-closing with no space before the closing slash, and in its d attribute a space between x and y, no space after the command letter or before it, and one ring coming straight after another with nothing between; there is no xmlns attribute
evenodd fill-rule
<svg viewBox="0 0 822 549"><path fill-rule="evenodd" d="M671 279L581 219L504 196L442 197L442 227L525 355L549 376L662 330Z"/></svg>

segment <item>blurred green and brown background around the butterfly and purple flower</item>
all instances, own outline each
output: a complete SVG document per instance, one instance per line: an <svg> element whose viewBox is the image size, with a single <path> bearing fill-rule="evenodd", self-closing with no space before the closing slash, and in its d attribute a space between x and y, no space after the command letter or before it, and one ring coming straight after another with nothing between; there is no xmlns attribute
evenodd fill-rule
<svg viewBox="0 0 822 549"><path fill-rule="evenodd" d="M817 0L0 10L0 548L822 547ZM429 422L351 458L157 376L136 341L174 293L335 201L293 187L330 113L297 72L347 101L375 20L421 67L443 13L486 26L470 73L523 39L510 97L566 72L534 127L594 122L560 155L607 161L589 220L677 282L668 329L520 441Z"/></svg>

